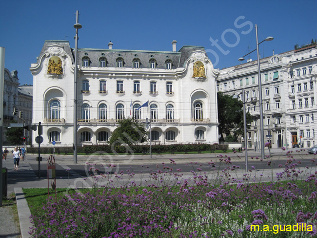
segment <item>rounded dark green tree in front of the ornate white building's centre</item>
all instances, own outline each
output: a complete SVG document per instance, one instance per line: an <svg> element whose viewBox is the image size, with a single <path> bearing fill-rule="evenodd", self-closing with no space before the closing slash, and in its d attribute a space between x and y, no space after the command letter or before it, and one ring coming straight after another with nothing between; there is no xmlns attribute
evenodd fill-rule
<svg viewBox="0 0 317 238"><path fill-rule="evenodd" d="M122 121L119 121L119 126L111 134L109 143L111 145L132 145L145 142L146 139L147 133L143 124L138 124L133 122L132 119L124 118Z"/></svg>

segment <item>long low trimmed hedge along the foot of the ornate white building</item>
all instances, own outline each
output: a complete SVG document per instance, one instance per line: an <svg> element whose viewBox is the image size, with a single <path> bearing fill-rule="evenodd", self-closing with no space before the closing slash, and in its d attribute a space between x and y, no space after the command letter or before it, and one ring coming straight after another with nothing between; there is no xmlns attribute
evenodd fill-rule
<svg viewBox="0 0 317 238"><path fill-rule="evenodd" d="M201 151L211 151L215 152L216 150L227 151L228 145L224 144L172 144L172 145L153 145L152 153L174 153L174 152L201 152ZM92 146L83 146L78 147L78 153L92 154L97 151L103 151L106 153L150 153L149 145L131 145L131 146L115 146L114 148L111 145L92 145ZM28 147L28 153L38 153L39 149L37 147ZM41 147L41 153L53 153L52 147ZM56 147L56 154L59 153L72 153L73 147Z"/></svg>

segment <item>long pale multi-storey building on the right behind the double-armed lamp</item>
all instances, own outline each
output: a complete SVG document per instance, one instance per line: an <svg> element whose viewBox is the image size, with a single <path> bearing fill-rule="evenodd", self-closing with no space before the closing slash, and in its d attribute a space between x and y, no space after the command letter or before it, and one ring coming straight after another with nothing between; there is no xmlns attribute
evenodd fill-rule
<svg viewBox="0 0 317 238"><path fill-rule="evenodd" d="M238 95L245 89L246 110L254 121L247 132L248 148L259 146L259 98L257 61L219 70L219 91ZM317 144L317 48L316 44L260 60L265 142L272 148ZM272 135L268 137L267 135ZM244 138L241 138L244 143Z"/></svg>

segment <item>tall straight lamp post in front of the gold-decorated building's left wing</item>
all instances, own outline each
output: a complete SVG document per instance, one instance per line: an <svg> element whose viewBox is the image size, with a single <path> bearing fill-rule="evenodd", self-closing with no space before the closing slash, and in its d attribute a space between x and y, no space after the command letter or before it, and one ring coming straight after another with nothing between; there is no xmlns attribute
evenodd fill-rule
<svg viewBox="0 0 317 238"><path fill-rule="evenodd" d="M79 12L76 11L76 24L74 28L76 29L75 35L75 68L74 68L74 164L77 164L77 108L78 108L78 101L77 101L77 58L78 58L78 29L82 26L78 23Z"/></svg>

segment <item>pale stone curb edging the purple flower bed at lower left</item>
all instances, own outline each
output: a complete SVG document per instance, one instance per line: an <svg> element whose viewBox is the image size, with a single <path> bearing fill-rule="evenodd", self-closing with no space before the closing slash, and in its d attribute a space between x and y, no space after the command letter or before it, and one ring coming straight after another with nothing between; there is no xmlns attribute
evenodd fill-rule
<svg viewBox="0 0 317 238"><path fill-rule="evenodd" d="M17 200L21 237L31 238L31 235L29 234L30 227L33 226L30 222L31 211L27 205L22 188L14 188L14 193L16 194Z"/></svg>

